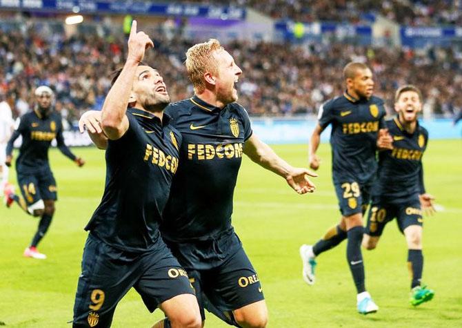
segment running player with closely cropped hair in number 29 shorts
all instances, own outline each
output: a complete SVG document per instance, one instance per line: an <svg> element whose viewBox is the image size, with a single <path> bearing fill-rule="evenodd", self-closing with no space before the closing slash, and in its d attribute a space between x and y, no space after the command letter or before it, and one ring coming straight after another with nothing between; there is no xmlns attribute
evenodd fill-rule
<svg viewBox="0 0 462 328"><path fill-rule="evenodd" d="M374 80L365 64L352 62L343 69L346 91L319 108L318 124L310 139L310 167L319 168L316 151L322 131L331 124L332 180L334 182L341 221L325 233L314 246L303 244L300 255L303 279L314 284L316 256L348 239L346 258L356 286L359 313L379 309L365 289L361 240L363 213L370 200L370 188L376 174L377 147L391 148L391 137L384 126L385 108L382 99L372 95ZM379 137L380 135L380 137Z"/></svg>

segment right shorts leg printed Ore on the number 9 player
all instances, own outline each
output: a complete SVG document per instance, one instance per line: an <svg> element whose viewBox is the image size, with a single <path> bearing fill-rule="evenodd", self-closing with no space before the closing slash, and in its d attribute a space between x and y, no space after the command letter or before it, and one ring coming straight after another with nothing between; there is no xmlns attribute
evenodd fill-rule
<svg viewBox="0 0 462 328"><path fill-rule="evenodd" d="M142 262L143 272L134 288L141 295L149 311L154 311L163 302L175 296L184 294L194 296L188 273L167 247L163 247L161 251L146 253L143 255ZM197 300L195 302L197 305ZM192 309L190 304L185 304L181 311L187 313ZM197 313L192 314L199 314L199 307L197 310Z"/></svg>

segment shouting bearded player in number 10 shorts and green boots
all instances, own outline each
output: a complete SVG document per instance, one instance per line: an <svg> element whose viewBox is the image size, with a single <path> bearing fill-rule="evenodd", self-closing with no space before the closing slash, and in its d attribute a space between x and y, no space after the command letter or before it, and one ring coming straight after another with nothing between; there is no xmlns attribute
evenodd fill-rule
<svg viewBox="0 0 462 328"><path fill-rule="evenodd" d="M379 153L378 178L372 188L372 204L365 228L363 247L374 249L385 224L396 218L408 243L408 267L411 273L410 302L416 306L431 300L434 291L421 286L422 211L434 211L432 195L425 193L422 155L427 148L428 132L417 120L422 110L422 94L416 86L396 90L394 109L397 117L387 121L393 137L393 150Z"/></svg>

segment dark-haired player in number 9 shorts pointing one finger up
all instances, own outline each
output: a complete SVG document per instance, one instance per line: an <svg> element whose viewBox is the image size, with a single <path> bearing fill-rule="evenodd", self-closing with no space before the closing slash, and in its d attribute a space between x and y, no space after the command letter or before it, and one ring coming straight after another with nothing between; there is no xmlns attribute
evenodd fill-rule
<svg viewBox="0 0 462 328"><path fill-rule="evenodd" d="M106 186L86 226L73 327L110 327L131 287L149 311L160 307L170 319L154 327L201 327L188 275L159 233L181 135L163 114L170 97L161 75L141 62L152 46L133 21L128 57L103 104Z"/></svg>

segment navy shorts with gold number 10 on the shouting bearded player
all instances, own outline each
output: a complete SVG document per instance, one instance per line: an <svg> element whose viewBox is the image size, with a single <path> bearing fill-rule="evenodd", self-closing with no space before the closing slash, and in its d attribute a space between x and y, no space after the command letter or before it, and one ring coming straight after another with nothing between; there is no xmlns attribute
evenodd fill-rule
<svg viewBox="0 0 462 328"><path fill-rule="evenodd" d="M379 237L382 235L385 225L394 218L396 218L396 223L401 233L408 226L422 226L423 218L419 196L410 197L404 201L383 200L379 197L373 197L368 215L368 224L364 233Z"/></svg>

